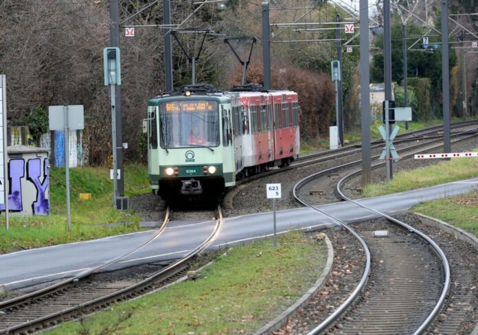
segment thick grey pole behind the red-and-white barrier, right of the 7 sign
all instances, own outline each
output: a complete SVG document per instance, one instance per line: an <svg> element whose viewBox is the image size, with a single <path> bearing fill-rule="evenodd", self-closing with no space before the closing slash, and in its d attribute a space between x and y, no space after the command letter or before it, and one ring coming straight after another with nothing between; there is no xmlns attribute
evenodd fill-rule
<svg viewBox="0 0 478 335"><path fill-rule="evenodd" d="M443 149L446 153L451 152L450 69L448 62L448 0L442 0Z"/></svg>

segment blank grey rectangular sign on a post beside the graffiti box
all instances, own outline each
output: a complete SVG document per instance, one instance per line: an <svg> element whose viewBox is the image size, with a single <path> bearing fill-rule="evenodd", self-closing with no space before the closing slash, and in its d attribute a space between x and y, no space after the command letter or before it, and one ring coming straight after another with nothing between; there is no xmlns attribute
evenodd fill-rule
<svg viewBox="0 0 478 335"><path fill-rule="evenodd" d="M71 228L71 210L69 200L69 131L84 128L83 105L65 105L48 107L49 130L65 130L65 172L67 179L67 224Z"/></svg>

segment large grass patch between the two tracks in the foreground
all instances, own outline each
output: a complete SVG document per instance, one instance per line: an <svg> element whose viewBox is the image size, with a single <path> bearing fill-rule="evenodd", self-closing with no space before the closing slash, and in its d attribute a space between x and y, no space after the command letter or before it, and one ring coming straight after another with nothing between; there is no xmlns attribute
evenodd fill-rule
<svg viewBox="0 0 478 335"><path fill-rule="evenodd" d="M113 305L49 334L250 334L301 297L326 260L324 244L288 233L228 251L185 281L135 301Z"/></svg>

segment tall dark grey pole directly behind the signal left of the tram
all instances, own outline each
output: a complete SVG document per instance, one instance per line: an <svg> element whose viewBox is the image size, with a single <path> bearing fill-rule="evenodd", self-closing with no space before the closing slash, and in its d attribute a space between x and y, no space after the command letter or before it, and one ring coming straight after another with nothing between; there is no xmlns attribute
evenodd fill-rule
<svg viewBox="0 0 478 335"><path fill-rule="evenodd" d="M110 44L111 47L120 47L120 8L118 0L110 1ZM115 87L115 143L113 151L116 154L117 169L123 171L123 139L122 139L122 112L121 112L121 85ZM114 155L114 154L113 154ZM116 170L115 170L116 171ZM117 180L117 195L124 196L124 173L122 178ZM115 204L116 206L116 204Z"/></svg>

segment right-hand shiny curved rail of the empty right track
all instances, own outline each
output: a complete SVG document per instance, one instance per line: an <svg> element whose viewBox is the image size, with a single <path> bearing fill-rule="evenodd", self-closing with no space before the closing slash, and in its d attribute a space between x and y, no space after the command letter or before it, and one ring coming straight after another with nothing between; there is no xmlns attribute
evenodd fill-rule
<svg viewBox="0 0 478 335"><path fill-rule="evenodd" d="M339 196L341 196L341 198L343 200L346 200L349 203L353 203L354 205L357 205L358 207L362 207L363 209L367 209L368 211L372 211L373 213L376 213L379 216L383 216L387 220L389 220L391 222L394 222L394 223L396 223L396 224L398 224L402 227L405 227L409 231L413 231L413 233L416 233L416 234L420 235L421 238L423 238L426 242L428 242L431 246L433 246L433 249L435 249L437 254L442 259L444 270L445 270L445 282L444 282L442 294L440 295L440 299L438 299L435 307L433 308L433 310L431 311L429 316L425 319L425 321L423 321L423 323L420 325L420 327L418 327L418 329L415 332L413 332L414 335L422 334L422 332L424 332L426 330L426 327L428 327L430 325L430 323L435 319L438 312L440 312L440 308L442 308L442 305L444 304L444 301L446 299L446 294L448 294L448 290L450 288L450 280L451 280L450 264L448 264L448 259L446 258L446 255L445 255L444 251L442 251L440 246L438 246L438 244L436 244L435 241L433 241L431 238L429 238L428 235L425 235L424 233L422 233L418 229L415 229L415 228L411 227L409 224L406 224L405 222L397 220L396 218L392 218L391 216L389 216L385 213L382 213L381 211L377 211L376 209L373 209L372 207L367 207L365 205L362 205L361 203L358 203L357 201L352 200L352 199L348 198L347 196L345 196L345 194L343 194L343 192L341 191L341 184L346 179L350 178L350 176L352 176L354 174L356 174L356 172L352 172L352 173L344 176L343 178L341 178L339 183L337 183L337 189L336 189L337 193L339 194ZM317 333L310 332L309 334L317 334Z"/></svg>

